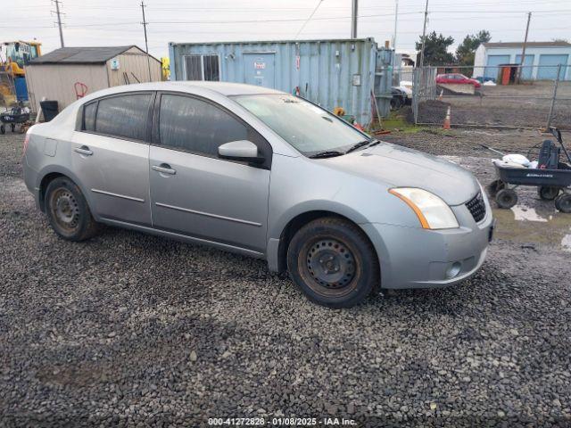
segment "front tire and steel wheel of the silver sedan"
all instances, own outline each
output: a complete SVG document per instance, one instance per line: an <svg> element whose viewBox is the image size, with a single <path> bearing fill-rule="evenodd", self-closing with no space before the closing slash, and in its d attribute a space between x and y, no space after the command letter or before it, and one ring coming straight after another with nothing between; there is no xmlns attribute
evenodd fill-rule
<svg viewBox="0 0 571 428"><path fill-rule="evenodd" d="M287 268L310 300L329 308L360 303L381 277L367 235L342 218L318 218L298 230L287 248Z"/></svg>

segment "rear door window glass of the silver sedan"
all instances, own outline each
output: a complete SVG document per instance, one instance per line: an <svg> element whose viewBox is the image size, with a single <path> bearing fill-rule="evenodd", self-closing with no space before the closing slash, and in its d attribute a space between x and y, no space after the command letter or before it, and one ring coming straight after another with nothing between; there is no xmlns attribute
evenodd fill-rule
<svg viewBox="0 0 571 428"><path fill-rule="evenodd" d="M145 140L151 98L151 94L128 94L99 100L95 116L95 132L107 136Z"/></svg>

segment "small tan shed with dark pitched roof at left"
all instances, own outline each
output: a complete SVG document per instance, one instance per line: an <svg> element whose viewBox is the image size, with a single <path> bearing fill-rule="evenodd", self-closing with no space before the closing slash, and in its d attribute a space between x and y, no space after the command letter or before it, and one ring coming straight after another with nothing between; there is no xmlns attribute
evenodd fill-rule
<svg viewBox="0 0 571 428"><path fill-rule="evenodd" d="M36 111L43 97L57 101L62 110L81 94L159 80L161 62L135 45L62 47L26 67L30 107Z"/></svg>

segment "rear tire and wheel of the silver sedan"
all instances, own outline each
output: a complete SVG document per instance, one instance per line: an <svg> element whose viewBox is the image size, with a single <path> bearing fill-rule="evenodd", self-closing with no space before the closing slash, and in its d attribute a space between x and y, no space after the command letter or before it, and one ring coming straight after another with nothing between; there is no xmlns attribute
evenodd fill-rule
<svg viewBox="0 0 571 428"><path fill-rule="evenodd" d="M99 231L78 185L68 177L57 177L46 188L47 218L57 235L68 241L85 241Z"/></svg>

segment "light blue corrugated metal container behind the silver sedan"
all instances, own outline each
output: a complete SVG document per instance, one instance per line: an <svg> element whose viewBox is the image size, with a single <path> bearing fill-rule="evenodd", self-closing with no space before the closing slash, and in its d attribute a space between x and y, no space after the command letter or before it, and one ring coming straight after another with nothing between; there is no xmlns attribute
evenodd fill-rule
<svg viewBox="0 0 571 428"><path fill-rule="evenodd" d="M301 95L328 110L343 107L367 124L371 90L379 95L382 114L389 111L390 99L380 95L391 93L390 86L386 87L390 82L378 78L377 60L388 56L392 65L393 51L387 50L388 55L378 52L373 38L170 43L170 78L271 87Z"/></svg>

